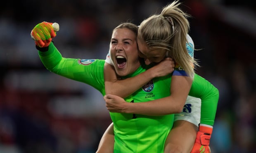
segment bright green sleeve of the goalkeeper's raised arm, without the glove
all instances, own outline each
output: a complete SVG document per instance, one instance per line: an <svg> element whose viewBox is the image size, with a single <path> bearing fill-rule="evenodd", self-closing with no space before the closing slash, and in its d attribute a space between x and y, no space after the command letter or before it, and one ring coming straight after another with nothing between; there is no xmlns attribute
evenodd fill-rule
<svg viewBox="0 0 256 153"><path fill-rule="evenodd" d="M103 91L104 60L64 58L53 43L49 45L48 51L38 51L38 54L47 70Z"/></svg>

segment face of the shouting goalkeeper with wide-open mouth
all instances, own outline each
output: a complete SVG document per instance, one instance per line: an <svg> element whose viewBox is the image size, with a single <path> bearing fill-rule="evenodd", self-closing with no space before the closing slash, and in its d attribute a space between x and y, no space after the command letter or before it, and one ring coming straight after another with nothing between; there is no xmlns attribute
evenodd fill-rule
<svg viewBox="0 0 256 153"><path fill-rule="evenodd" d="M111 60L119 76L131 74L140 66L136 35L128 28L113 31L109 48Z"/></svg>

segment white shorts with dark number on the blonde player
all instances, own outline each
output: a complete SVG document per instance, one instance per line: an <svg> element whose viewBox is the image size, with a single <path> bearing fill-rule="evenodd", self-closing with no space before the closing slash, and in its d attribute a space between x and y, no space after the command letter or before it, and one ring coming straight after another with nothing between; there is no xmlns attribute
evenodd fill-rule
<svg viewBox="0 0 256 153"><path fill-rule="evenodd" d="M174 121L185 120L193 123L198 127L201 116L201 99L187 96L186 103L183 107L183 111L179 114L175 114Z"/></svg>

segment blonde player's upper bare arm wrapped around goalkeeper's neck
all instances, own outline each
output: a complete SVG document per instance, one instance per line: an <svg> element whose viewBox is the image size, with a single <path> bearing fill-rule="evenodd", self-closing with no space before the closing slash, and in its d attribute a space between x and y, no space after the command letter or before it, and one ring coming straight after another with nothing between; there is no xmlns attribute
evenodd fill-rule
<svg viewBox="0 0 256 153"><path fill-rule="evenodd" d="M174 61L171 58L164 59L158 65L138 74L137 76L118 79L114 67L108 63L104 65L104 80L106 94L127 97L144 86L155 77L166 76L173 72Z"/></svg>

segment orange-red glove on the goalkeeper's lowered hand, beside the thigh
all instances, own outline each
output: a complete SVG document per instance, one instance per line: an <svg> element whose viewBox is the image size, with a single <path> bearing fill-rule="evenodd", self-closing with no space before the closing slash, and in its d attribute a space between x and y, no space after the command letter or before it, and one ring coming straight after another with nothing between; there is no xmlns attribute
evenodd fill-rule
<svg viewBox="0 0 256 153"><path fill-rule="evenodd" d="M213 127L211 125L199 125L199 131L191 153L211 153L209 144L212 131Z"/></svg>

